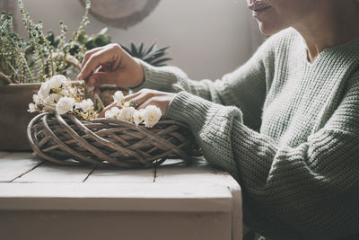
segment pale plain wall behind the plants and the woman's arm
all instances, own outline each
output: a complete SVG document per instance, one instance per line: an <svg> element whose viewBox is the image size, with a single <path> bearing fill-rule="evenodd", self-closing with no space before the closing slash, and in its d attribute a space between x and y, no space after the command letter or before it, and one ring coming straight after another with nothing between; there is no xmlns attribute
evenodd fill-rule
<svg viewBox="0 0 359 240"><path fill-rule="evenodd" d="M44 22L45 31L58 32L63 20L72 32L83 16L78 0L24 0L24 4L33 19ZM22 26L19 14L17 21ZM87 33L105 27L93 17L90 21ZM244 0L162 0L143 22L127 31L109 27L109 35L124 45L131 41L170 45L171 65L193 79L221 77L250 58L252 51Z"/></svg>

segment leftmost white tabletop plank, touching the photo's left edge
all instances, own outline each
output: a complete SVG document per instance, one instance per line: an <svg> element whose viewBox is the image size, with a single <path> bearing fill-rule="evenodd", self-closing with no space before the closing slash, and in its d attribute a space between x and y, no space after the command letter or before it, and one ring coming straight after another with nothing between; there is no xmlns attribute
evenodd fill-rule
<svg viewBox="0 0 359 240"><path fill-rule="evenodd" d="M0 182L12 182L42 164L31 153L11 153L0 158Z"/></svg>

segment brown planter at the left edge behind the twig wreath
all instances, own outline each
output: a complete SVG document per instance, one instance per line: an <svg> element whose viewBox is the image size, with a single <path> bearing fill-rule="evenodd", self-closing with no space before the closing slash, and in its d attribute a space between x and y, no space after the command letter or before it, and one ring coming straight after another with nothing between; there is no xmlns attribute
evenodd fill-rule
<svg viewBox="0 0 359 240"><path fill-rule="evenodd" d="M0 85L0 151L31 151L26 129L36 114L27 110L40 85Z"/></svg>

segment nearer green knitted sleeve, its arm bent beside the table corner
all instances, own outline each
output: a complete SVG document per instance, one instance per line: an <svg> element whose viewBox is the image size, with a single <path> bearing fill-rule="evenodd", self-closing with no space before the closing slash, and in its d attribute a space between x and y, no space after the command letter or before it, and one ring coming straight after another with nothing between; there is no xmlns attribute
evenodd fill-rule
<svg viewBox="0 0 359 240"><path fill-rule="evenodd" d="M207 161L241 183L244 220L259 233L335 239L359 229L359 77L326 125L298 147L278 147L242 124L238 108L186 92L166 118L186 122Z"/></svg>

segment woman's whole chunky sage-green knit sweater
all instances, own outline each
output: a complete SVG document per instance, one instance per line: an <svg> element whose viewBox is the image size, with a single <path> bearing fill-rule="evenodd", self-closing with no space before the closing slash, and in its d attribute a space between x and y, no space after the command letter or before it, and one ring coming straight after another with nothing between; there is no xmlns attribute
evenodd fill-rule
<svg viewBox="0 0 359 240"><path fill-rule="evenodd" d="M206 160L241 184L251 228L274 239L359 233L359 39L311 64L287 29L215 82L142 65L136 90L178 93L165 117L187 123Z"/></svg>

